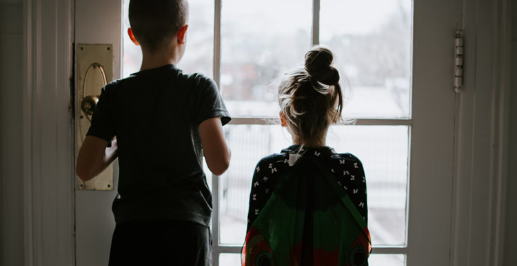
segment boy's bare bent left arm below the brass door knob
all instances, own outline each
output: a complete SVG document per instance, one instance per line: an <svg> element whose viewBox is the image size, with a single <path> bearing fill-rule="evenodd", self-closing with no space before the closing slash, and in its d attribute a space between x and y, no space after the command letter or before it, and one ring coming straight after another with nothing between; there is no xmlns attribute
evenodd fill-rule
<svg viewBox="0 0 517 266"><path fill-rule="evenodd" d="M108 141L96 136L86 136L79 155L75 172L82 181L88 181L103 172L118 156L116 139L112 141L111 147Z"/></svg>

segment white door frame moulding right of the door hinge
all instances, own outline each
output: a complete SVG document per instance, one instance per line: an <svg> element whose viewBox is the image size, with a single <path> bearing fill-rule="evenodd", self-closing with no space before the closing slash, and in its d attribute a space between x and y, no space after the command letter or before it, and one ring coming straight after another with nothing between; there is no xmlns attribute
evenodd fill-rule
<svg viewBox="0 0 517 266"><path fill-rule="evenodd" d="M456 96L452 266L503 265L511 20L507 0L465 0Z"/></svg>

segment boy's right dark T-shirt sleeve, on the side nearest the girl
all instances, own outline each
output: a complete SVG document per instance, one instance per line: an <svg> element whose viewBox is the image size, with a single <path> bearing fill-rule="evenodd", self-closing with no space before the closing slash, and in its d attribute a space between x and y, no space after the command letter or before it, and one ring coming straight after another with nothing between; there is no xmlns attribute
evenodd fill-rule
<svg viewBox="0 0 517 266"><path fill-rule="evenodd" d="M205 79L205 86L199 96L196 97L196 122L199 125L207 119L221 116L221 123L226 125L230 120L232 120L230 118L230 113L226 109L225 103L217 89L215 81L208 78Z"/></svg>

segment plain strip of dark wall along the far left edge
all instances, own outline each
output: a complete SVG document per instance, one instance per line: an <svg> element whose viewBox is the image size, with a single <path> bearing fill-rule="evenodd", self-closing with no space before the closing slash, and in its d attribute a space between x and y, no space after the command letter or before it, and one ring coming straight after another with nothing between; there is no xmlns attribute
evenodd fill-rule
<svg viewBox="0 0 517 266"><path fill-rule="evenodd" d="M23 265L23 2L0 0L0 265ZM3 215L2 215L3 214Z"/></svg>

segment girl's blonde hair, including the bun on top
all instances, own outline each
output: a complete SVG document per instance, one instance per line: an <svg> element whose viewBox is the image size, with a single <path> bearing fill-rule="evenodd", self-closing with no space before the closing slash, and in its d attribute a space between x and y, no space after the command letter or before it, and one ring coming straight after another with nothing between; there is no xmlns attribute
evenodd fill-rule
<svg viewBox="0 0 517 266"><path fill-rule="evenodd" d="M328 127L341 120L343 95L339 72L332 66L334 54L317 46L305 54L305 68L286 74L278 85L278 103L301 141L323 138Z"/></svg>

